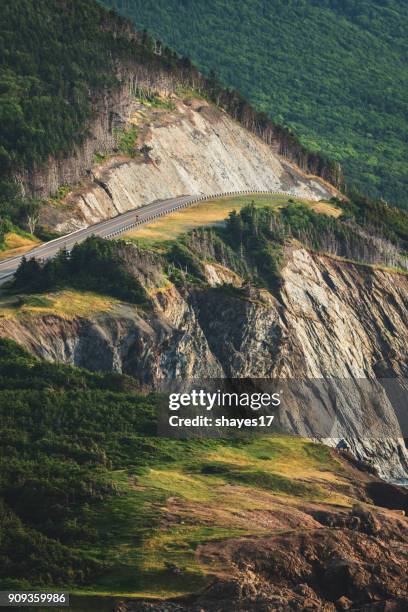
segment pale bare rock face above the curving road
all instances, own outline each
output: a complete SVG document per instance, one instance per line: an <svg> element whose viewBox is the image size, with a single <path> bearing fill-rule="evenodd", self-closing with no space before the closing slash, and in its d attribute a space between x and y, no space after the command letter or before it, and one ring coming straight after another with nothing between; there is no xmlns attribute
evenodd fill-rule
<svg viewBox="0 0 408 612"><path fill-rule="evenodd" d="M58 232L69 232L184 194L253 189L318 200L336 193L320 179L305 176L215 106L177 98L173 103L173 110L152 110L135 99L122 101L121 117L138 127L138 146L152 147L149 157L116 156L94 168L64 205L45 209L43 222ZM111 143L107 144L109 150Z"/></svg>

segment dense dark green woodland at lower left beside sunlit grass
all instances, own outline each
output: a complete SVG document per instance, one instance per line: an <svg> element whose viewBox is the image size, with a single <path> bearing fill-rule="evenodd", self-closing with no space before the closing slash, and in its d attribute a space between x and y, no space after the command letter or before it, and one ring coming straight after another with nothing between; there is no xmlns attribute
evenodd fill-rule
<svg viewBox="0 0 408 612"><path fill-rule="evenodd" d="M95 509L117 494L114 464L126 464L131 439L143 464L155 429L154 403L134 389L125 376L47 364L0 341L3 588L81 583L103 569L80 545L95 540Z"/></svg>

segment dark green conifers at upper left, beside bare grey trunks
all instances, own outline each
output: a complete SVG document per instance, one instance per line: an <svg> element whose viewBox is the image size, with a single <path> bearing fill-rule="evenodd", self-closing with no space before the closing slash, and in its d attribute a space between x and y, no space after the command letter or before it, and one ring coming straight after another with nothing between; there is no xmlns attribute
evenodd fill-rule
<svg viewBox="0 0 408 612"><path fill-rule="evenodd" d="M0 18L0 214L24 225L37 205L14 173L70 152L87 132L91 93L115 85L130 53L126 22L95 2L3 2ZM114 33L116 31L116 36Z"/></svg>

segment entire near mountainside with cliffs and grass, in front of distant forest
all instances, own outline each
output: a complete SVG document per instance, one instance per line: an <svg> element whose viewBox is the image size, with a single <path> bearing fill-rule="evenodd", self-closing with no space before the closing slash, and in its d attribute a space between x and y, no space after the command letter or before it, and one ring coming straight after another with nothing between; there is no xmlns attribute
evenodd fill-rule
<svg viewBox="0 0 408 612"><path fill-rule="evenodd" d="M2 285L2 588L78 612L406 609L408 213L342 197L336 160L96 0L5 3L0 139L0 256L263 191L62 237ZM278 379L273 427L168 435L193 378Z"/></svg>

